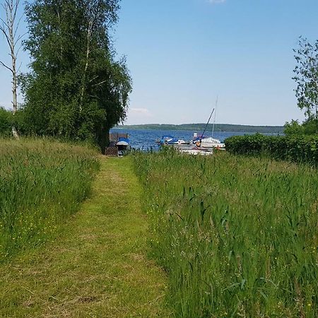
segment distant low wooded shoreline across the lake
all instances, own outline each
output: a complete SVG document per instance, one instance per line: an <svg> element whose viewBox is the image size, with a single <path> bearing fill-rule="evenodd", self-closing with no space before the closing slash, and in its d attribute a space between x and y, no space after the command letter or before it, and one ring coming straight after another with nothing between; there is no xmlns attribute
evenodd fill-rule
<svg viewBox="0 0 318 318"><path fill-rule="evenodd" d="M204 131L206 124L141 124L141 125L119 125L115 129L150 129L150 130L187 130L187 131ZM208 124L207 130L211 131L213 124ZM261 134L283 134L283 126L251 126L236 124L215 124L216 132L249 132Z"/></svg>

